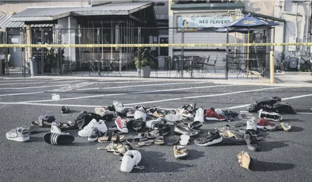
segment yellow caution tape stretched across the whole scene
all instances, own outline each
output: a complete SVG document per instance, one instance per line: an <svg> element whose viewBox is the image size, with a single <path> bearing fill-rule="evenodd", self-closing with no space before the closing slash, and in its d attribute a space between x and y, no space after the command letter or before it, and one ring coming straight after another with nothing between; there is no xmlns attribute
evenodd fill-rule
<svg viewBox="0 0 312 182"><path fill-rule="evenodd" d="M308 43L183 43L183 44L0 44L5 47L224 47L224 46L285 46L312 45Z"/></svg>

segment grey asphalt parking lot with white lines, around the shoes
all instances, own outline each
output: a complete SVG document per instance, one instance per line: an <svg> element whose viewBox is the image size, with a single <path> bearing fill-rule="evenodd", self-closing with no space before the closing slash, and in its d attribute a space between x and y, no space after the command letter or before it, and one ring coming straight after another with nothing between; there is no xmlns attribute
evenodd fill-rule
<svg viewBox="0 0 312 182"><path fill-rule="evenodd" d="M51 94L59 94L60 100L52 100ZM144 169L133 169L131 173L120 172L117 156L97 150L107 144L90 143L79 137L78 131L69 131L75 140L67 146L45 143L42 137L49 132L48 128L30 135L28 142L5 138L10 129L26 128L40 115L54 115L57 122L73 121L80 111L94 112L94 107L112 105L114 100L127 107L142 104L165 109L196 103L196 107L228 108L246 116L246 105L270 96L281 97L298 114L283 115L283 121L292 125L292 132L261 132L264 139L259 142L259 152L237 145L200 147L191 138L186 146L188 157L175 160L172 146L153 144L139 149L142 160L138 166L144 166ZM61 106L68 106L71 112L61 114ZM311 87L231 85L174 79L0 78L0 108L0 181L3 182L303 182L312 179ZM256 113L247 114L258 119ZM207 122L202 132L225 124L233 126L238 121L239 118L233 122ZM114 123L109 121L106 125L110 127ZM134 135L135 132L130 132L125 137ZM240 151L247 152L253 159L252 171L238 165L236 155Z"/></svg>

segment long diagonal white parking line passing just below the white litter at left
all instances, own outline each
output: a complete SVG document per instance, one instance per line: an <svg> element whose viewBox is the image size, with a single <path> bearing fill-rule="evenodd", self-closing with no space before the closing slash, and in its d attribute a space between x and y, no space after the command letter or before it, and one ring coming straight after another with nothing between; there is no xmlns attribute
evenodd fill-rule
<svg viewBox="0 0 312 182"><path fill-rule="evenodd" d="M175 88L175 89L166 89L166 90L151 90L151 91L143 91L143 92L130 92L130 93L118 93L118 94L101 94L101 95L90 95L90 96L82 96L82 97L71 97L64 98L59 100L38 100L38 101L26 101L22 103L31 103L31 102L51 102L51 101L61 101L61 100L74 100L74 99L85 99L85 98L95 98L102 96L113 96L113 95L127 95L127 94L140 94L140 93L152 93L152 92L165 92L165 91L173 91L173 90L187 90L187 89L195 89L195 88L209 88L209 87L224 87L230 85L212 85L212 86L203 86L203 87L188 87L188 88Z"/></svg>

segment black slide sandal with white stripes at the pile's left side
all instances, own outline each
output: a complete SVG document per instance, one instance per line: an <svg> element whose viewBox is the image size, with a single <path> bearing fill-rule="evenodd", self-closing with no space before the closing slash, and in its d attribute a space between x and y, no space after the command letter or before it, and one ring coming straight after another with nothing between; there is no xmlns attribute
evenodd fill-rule
<svg viewBox="0 0 312 182"><path fill-rule="evenodd" d="M64 145L74 141L73 136L67 134L46 133L43 136L44 142L52 145Z"/></svg>

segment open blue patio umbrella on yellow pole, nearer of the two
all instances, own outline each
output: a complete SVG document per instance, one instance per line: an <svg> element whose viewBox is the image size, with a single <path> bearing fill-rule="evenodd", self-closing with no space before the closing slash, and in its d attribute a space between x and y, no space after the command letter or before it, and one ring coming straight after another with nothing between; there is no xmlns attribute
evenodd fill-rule
<svg viewBox="0 0 312 182"><path fill-rule="evenodd" d="M249 43L249 28L250 27L271 27L276 26L278 23L275 23L273 21L268 21L264 19L260 19L256 16L252 16L249 14L244 15L244 17L236 19L232 22L223 24L223 27L227 28L248 28L248 40L247 43ZM248 78L248 65L249 65L249 46L247 46L247 75Z"/></svg>

